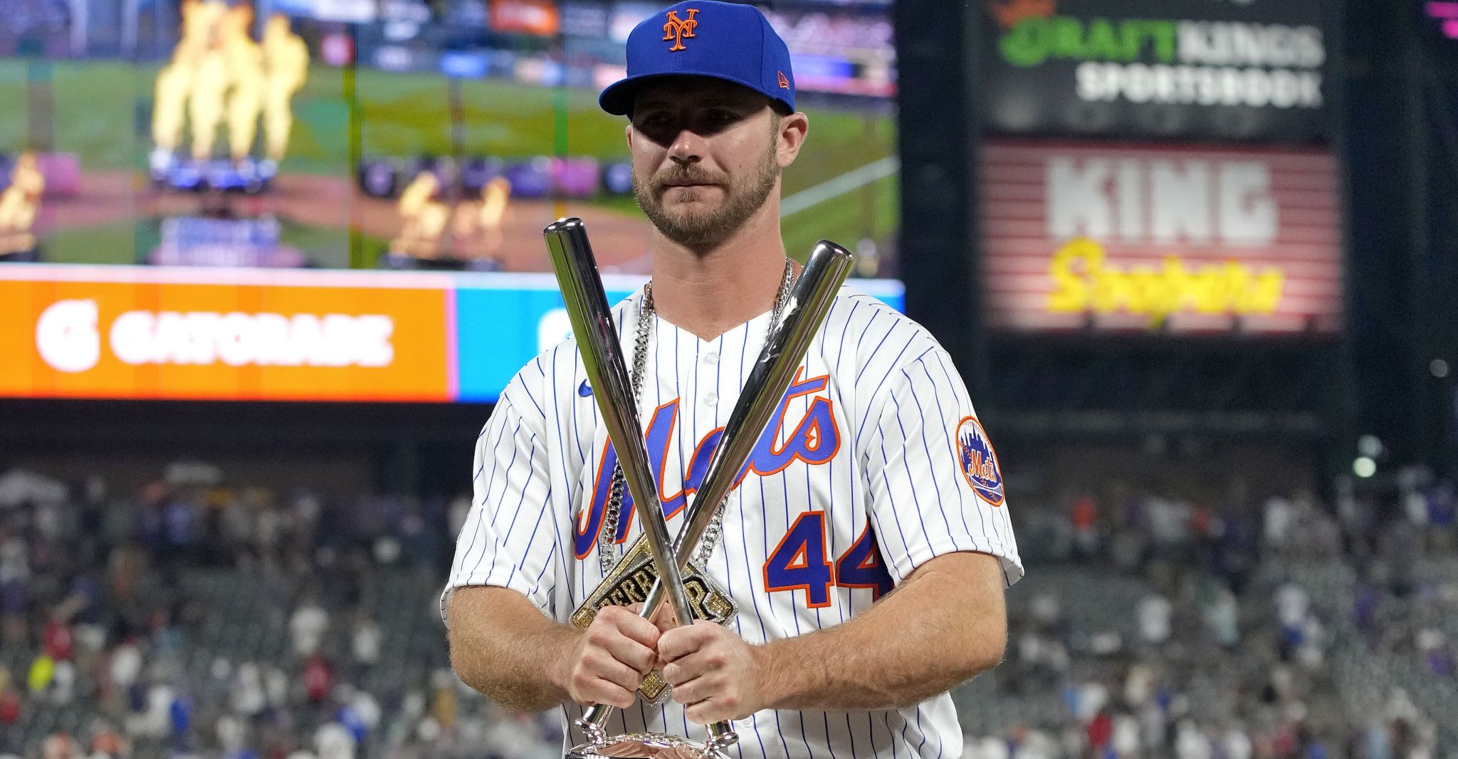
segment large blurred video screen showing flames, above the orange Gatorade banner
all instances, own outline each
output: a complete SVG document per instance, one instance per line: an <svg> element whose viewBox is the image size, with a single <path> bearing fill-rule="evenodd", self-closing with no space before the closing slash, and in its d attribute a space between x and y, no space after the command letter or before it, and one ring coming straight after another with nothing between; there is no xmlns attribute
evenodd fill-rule
<svg viewBox="0 0 1458 759"><path fill-rule="evenodd" d="M588 221L647 271L624 119L596 95L655 3L12 0L0 15L4 261L550 271ZM812 137L793 252L895 271L888 1L776 3Z"/></svg>

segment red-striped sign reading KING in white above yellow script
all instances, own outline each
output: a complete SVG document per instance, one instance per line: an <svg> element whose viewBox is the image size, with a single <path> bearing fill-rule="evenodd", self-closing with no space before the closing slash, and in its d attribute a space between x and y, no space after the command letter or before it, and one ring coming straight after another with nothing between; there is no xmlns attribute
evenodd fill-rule
<svg viewBox="0 0 1458 759"><path fill-rule="evenodd" d="M997 140L980 175L994 329L1319 335L1340 326L1330 152Z"/></svg>

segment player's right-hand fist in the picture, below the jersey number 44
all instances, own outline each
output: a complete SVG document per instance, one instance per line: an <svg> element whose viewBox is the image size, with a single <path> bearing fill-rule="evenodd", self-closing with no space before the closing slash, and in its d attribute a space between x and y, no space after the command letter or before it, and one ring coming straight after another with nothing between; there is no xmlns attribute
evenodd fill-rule
<svg viewBox="0 0 1458 759"><path fill-rule="evenodd" d="M763 650L722 625L698 619L669 629L658 654L674 701L697 724L742 720L765 707Z"/></svg>

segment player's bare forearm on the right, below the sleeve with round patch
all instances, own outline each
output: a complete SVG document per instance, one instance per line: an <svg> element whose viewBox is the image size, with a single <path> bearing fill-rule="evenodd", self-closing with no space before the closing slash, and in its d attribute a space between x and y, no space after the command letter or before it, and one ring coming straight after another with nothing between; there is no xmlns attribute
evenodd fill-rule
<svg viewBox="0 0 1458 759"><path fill-rule="evenodd" d="M996 666L1007 642L996 561L940 557L841 625L758 647L768 707L905 708Z"/></svg>

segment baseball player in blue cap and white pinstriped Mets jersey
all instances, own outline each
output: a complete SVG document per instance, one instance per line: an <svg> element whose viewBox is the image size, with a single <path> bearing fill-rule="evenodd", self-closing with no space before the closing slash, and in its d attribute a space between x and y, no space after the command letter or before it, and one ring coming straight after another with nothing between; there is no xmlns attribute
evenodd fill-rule
<svg viewBox="0 0 1458 759"><path fill-rule="evenodd" d="M614 316L675 533L798 272L780 173L809 122L764 16L713 0L640 23L599 102L628 119L655 229L652 281ZM639 535L615 466L576 345L526 364L478 439L442 596L462 680L567 724L620 707L609 734L703 742L733 720L741 758L962 753L948 691L1002 658L1022 565L997 456L921 326L840 293L706 532L703 574L738 609L722 625L623 607L567 624ZM660 705L636 698L655 669Z"/></svg>

